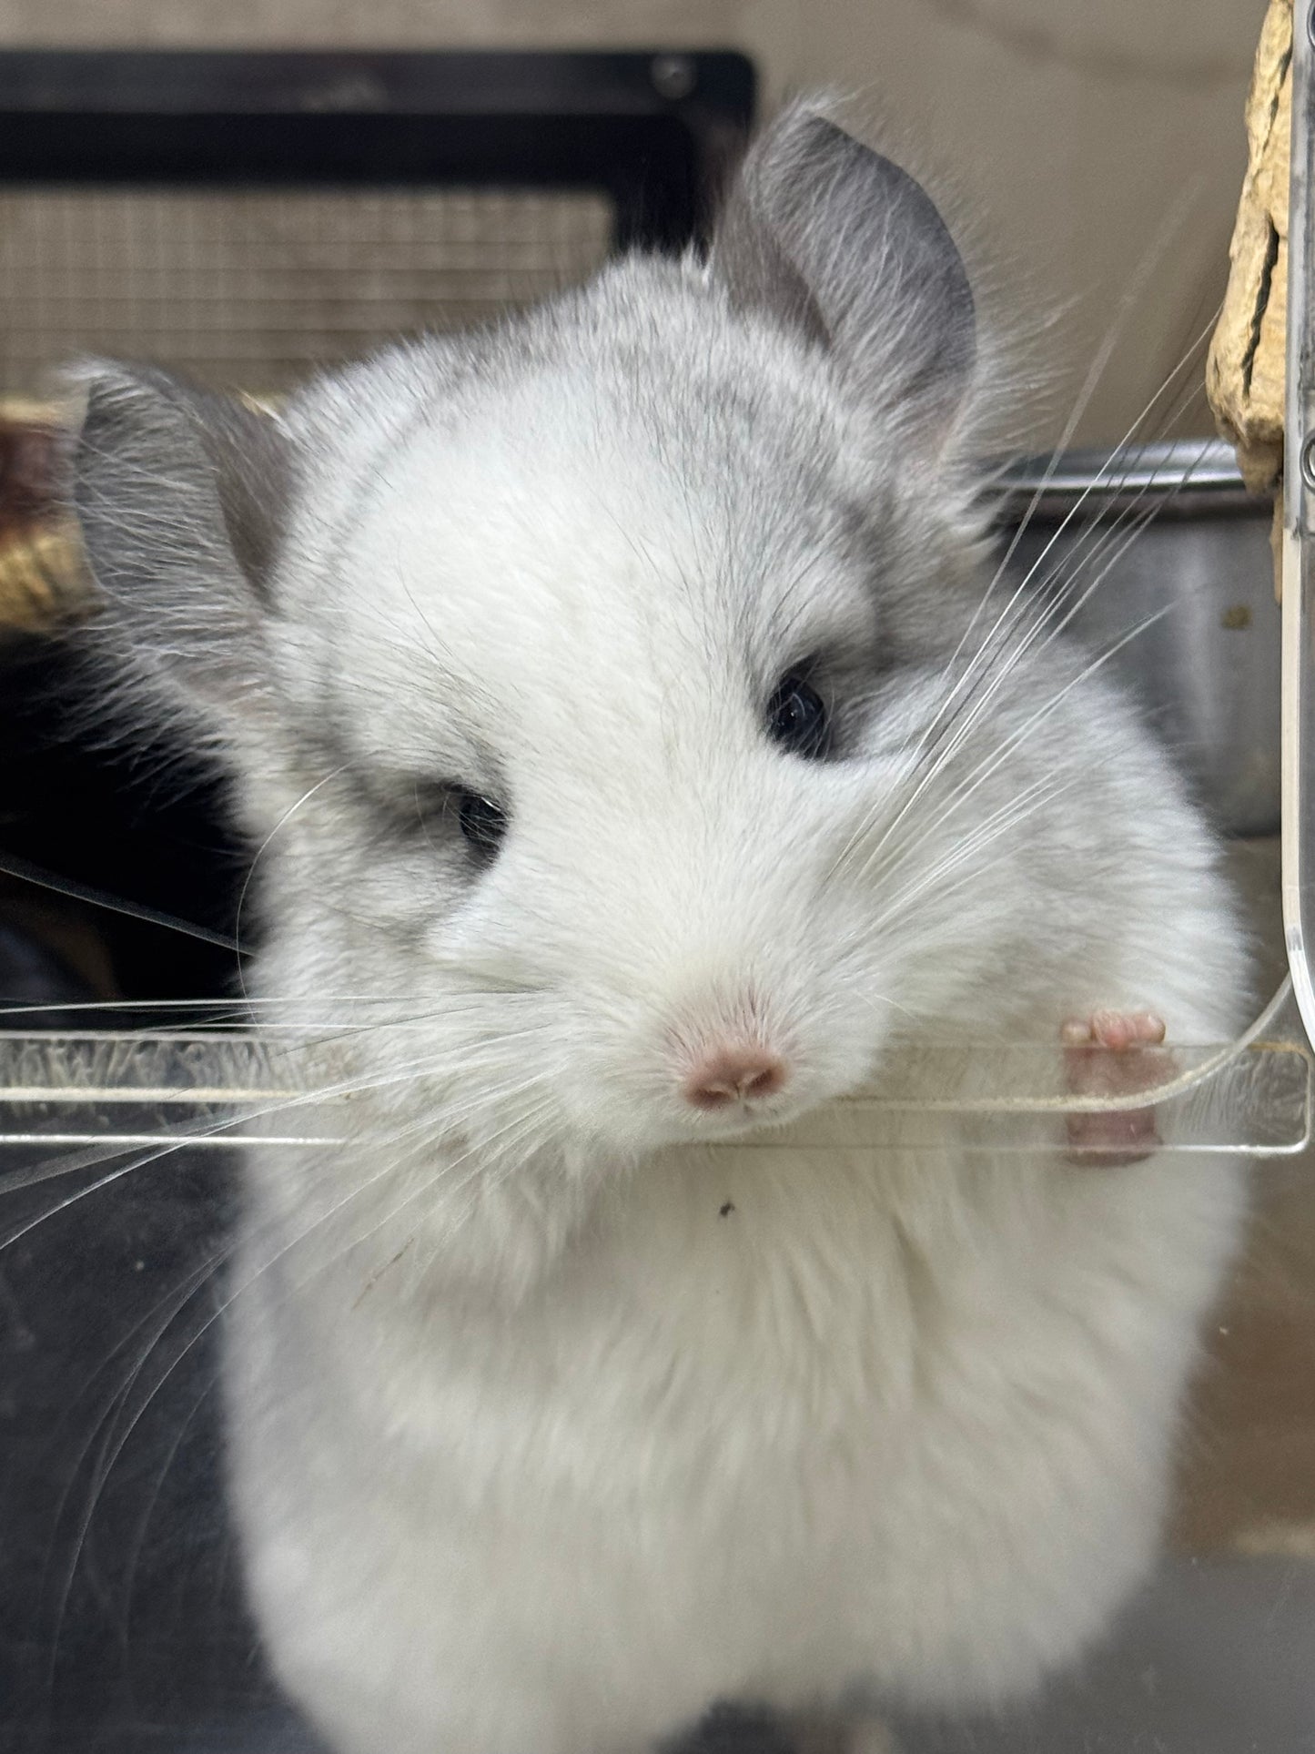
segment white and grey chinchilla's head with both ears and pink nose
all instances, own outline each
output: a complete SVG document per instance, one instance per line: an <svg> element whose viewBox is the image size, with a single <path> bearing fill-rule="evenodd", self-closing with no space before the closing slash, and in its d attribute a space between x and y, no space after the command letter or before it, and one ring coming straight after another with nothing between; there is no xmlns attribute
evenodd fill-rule
<svg viewBox="0 0 1315 1754"><path fill-rule="evenodd" d="M707 258L279 414L88 368L102 630L237 777L256 986L394 1003L356 1044L417 1073L403 1112L612 1154L789 1117L945 1016L998 956L963 888L910 903L963 840L910 774L980 561L978 375L936 209L807 107Z"/></svg>

